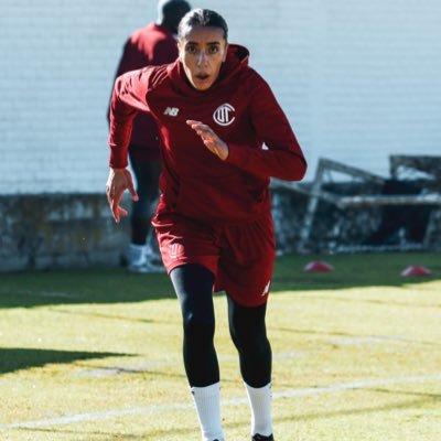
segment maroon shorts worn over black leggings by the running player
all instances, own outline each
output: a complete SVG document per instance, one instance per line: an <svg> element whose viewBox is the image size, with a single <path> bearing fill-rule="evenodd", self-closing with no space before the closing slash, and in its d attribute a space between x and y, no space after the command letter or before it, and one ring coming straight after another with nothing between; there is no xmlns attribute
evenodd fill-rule
<svg viewBox="0 0 441 441"><path fill-rule="evenodd" d="M276 259L271 214L244 224L213 227L175 213L152 222L163 263L198 263L215 276L213 291L225 291L237 303L258 306L267 301Z"/></svg>

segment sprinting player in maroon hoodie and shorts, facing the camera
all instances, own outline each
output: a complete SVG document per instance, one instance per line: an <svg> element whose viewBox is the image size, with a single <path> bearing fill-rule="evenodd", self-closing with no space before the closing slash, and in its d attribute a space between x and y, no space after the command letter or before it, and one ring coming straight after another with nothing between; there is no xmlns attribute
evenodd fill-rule
<svg viewBox="0 0 441 441"><path fill-rule="evenodd" d="M273 440L271 347L266 309L275 263L269 181L299 181L306 162L291 126L248 51L227 24L196 9L179 25L179 58L117 78L106 192L115 220L129 190L131 121L157 120L161 196L153 225L180 300L183 355L203 440L223 440L213 291L227 294L229 331L251 406L251 439ZM265 148L263 148L265 143Z"/></svg>

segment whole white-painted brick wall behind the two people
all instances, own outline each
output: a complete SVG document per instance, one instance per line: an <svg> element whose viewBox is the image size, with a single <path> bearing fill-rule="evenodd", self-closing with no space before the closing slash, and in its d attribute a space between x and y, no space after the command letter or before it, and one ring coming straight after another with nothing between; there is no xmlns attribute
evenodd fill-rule
<svg viewBox="0 0 441 441"><path fill-rule="evenodd" d="M390 153L440 154L439 0L193 4L217 9L251 50L310 179L320 157L387 174ZM2 0L0 194L103 191L116 65L154 17L152 0Z"/></svg>

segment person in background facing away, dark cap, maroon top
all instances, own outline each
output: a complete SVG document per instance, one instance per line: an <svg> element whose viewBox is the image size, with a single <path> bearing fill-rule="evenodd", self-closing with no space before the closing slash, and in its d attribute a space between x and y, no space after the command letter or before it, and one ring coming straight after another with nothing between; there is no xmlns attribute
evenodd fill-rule
<svg viewBox="0 0 441 441"><path fill-rule="evenodd" d="M190 11L185 0L161 0L158 2L155 23L136 30L125 44L117 77L129 71L146 66L159 66L178 58L174 35L178 24ZM133 120L129 144L131 169L136 176L139 201L133 204L130 216L130 246L128 268L132 272L158 270L152 262L152 250L147 244L150 232L150 217L154 212L154 201L159 195L161 173L160 136L154 118L140 112Z"/></svg>

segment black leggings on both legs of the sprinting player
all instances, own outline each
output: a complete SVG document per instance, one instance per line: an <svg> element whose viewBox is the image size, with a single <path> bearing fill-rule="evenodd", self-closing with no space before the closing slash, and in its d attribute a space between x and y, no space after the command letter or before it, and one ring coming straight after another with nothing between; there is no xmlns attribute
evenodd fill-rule
<svg viewBox="0 0 441 441"><path fill-rule="evenodd" d="M190 386L204 387L219 381L214 348L214 276L200 265L173 269L171 279L181 303L184 329L184 365ZM247 308L228 297L229 332L239 353L240 373L251 387L271 379L271 347L267 338L267 305Z"/></svg>

